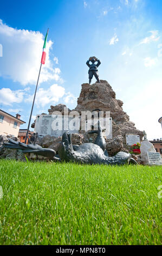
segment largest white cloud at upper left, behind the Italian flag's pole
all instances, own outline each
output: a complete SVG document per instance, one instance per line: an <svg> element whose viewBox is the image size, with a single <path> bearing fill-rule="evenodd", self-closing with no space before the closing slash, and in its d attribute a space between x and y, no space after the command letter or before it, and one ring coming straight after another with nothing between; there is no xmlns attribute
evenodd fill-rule
<svg viewBox="0 0 162 256"><path fill-rule="evenodd" d="M12 28L0 20L0 37L3 45L0 76L11 78L22 85L36 84L41 64L43 34ZM42 65L40 83L60 80L60 73L53 68L53 62L49 58L52 45L53 42L49 40L46 45L46 63Z"/></svg>

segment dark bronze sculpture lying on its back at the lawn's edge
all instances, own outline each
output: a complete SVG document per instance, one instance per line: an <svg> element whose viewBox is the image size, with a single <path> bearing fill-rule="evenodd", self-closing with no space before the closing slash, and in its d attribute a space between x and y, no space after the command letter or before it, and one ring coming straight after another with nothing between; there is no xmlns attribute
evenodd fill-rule
<svg viewBox="0 0 162 256"><path fill-rule="evenodd" d="M100 121L98 122L98 130L92 131L92 133L94 132L98 133L95 143L83 143L80 146L72 145L70 134L64 132L62 136L62 143L58 150L60 159L67 162L72 161L76 163L89 164L137 164L129 153L119 152L115 156L108 156L107 150L105 149L105 138L102 136Z"/></svg>

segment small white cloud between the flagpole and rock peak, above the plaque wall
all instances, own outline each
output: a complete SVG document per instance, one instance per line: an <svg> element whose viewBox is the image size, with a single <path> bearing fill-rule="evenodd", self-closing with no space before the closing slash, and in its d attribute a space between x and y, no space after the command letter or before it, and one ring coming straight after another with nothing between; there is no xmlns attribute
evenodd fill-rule
<svg viewBox="0 0 162 256"><path fill-rule="evenodd" d="M53 84L48 89L39 88L37 90L35 103L37 107L44 107L49 103L56 103L58 102L61 97L65 94L65 89L57 84ZM26 102L33 101L34 95L29 95Z"/></svg>

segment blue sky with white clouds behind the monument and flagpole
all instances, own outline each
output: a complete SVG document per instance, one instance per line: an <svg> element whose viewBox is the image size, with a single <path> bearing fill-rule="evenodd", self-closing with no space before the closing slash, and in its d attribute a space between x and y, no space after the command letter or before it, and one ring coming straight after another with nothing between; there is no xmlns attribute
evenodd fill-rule
<svg viewBox="0 0 162 256"><path fill-rule="evenodd" d="M162 2L159 0L5 1L0 8L0 108L28 123L49 27L33 112L76 106L88 82L86 61L100 59L100 79L124 101L123 109L148 139L162 137ZM95 82L93 78L93 82ZM27 124L21 126L27 127Z"/></svg>

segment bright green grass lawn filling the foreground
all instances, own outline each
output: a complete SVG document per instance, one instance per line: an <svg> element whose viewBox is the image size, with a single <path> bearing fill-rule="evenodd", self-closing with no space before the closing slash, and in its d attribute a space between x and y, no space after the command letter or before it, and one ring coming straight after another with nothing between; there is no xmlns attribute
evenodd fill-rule
<svg viewBox="0 0 162 256"><path fill-rule="evenodd" d="M0 160L0 244L159 245L161 170Z"/></svg>

